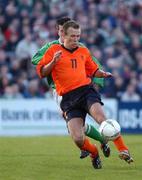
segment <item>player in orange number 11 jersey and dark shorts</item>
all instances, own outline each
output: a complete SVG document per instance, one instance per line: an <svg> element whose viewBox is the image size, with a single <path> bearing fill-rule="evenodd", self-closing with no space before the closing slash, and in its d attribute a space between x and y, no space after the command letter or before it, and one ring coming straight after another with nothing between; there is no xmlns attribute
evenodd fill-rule
<svg viewBox="0 0 142 180"><path fill-rule="evenodd" d="M81 150L90 152L93 167L99 169L102 166L98 149L86 138L83 125L87 113L99 124L107 119L100 95L91 85L91 77L108 78L112 74L99 70L88 49L79 46L81 29L75 21L63 25L63 34L64 43L53 44L46 51L36 67L37 73L41 78L52 74L57 93L62 96L60 106L70 135ZM120 158L133 162L122 136L114 140L114 144L120 151Z"/></svg>

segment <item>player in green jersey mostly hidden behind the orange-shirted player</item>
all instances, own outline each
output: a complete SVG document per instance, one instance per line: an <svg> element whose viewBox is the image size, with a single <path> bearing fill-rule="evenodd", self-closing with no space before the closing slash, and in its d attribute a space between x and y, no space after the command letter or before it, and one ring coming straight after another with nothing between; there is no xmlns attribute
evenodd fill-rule
<svg viewBox="0 0 142 180"><path fill-rule="evenodd" d="M45 54L45 52L48 50L48 48L50 46L52 46L53 44L62 44L63 43L63 36L62 36L62 33L63 33L63 24L70 21L71 19L69 17L63 17L63 18L60 18L57 20L56 22L56 29L58 31L58 35L59 35L59 40L55 40L55 41L52 41L50 43L46 43L32 58L32 63L34 65L37 65L38 62L42 59L43 55ZM80 43L80 45L82 45ZM95 57L92 57L93 60L97 63L98 60L95 58ZM100 64L99 64L100 66ZM55 86L54 86L54 83L53 83L53 80L52 80L52 77L51 76L48 76L47 77L47 81L48 81L48 84L51 85L51 87L54 89L54 98L56 99L57 101L57 104L59 105L60 104L60 98L59 96L56 94L56 91L55 91ZM102 78L95 78L94 81L96 82L97 85L99 86L103 86L103 79ZM85 127L84 127L84 131L85 131L85 135L94 139L94 140L97 140L101 143L101 149L103 151L103 154L105 157L109 157L110 155L110 148L109 148L109 145L105 142L105 139L101 136L101 134L98 132L98 130L92 126L92 125L89 125L89 124L86 124ZM87 151L81 151L81 155L80 155L80 158L83 159L85 158L86 156L88 156L89 153Z"/></svg>

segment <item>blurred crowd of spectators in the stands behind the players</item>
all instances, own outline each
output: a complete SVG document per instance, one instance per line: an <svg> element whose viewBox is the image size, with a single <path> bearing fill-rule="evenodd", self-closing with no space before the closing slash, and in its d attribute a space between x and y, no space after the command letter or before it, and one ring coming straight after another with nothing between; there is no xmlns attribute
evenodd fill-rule
<svg viewBox="0 0 142 180"><path fill-rule="evenodd" d="M62 16L79 22L81 42L114 74L102 95L142 100L141 0L0 1L0 98L50 97L31 57L58 38L55 21Z"/></svg>

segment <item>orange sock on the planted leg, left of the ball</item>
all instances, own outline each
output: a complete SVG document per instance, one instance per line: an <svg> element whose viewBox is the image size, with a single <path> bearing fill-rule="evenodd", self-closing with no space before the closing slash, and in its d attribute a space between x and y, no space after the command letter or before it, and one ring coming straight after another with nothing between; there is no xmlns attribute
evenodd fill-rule
<svg viewBox="0 0 142 180"><path fill-rule="evenodd" d="M92 143L89 141L89 139L87 139L87 138L85 138L84 144L83 144L81 150L85 150L85 151L87 150L87 151L89 151L91 154L93 154L94 156L96 156L96 155L98 154L98 149L97 149L97 147L96 147L94 144L92 144Z"/></svg>

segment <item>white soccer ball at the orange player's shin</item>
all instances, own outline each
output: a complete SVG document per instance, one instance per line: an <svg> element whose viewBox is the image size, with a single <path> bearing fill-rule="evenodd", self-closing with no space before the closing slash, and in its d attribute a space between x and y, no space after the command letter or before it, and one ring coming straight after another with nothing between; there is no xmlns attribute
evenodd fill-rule
<svg viewBox="0 0 142 180"><path fill-rule="evenodd" d="M107 141L112 141L120 135L120 125L116 120L107 119L99 127L99 132Z"/></svg>

